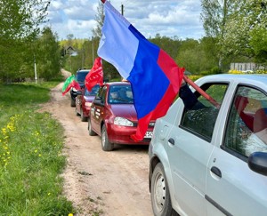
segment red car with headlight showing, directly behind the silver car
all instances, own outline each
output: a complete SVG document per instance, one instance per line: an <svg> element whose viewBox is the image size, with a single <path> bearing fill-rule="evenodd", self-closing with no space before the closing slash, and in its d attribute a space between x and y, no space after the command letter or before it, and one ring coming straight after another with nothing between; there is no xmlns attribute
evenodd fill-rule
<svg viewBox="0 0 267 216"><path fill-rule="evenodd" d="M131 84L102 85L93 100L88 119L89 135L101 136L102 149L111 151L114 144L149 145L155 121L150 123L144 139L135 142L130 135L136 132L137 122Z"/></svg>

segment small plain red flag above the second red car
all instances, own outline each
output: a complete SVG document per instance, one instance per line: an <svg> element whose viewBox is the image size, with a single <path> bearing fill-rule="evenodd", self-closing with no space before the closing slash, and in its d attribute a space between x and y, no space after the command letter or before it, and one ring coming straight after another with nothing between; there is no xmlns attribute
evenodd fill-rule
<svg viewBox="0 0 267 216"><path fill-rule="evenodd" d="M85 86L89 92L95 84L103 84L103 68L100 57L94 60L93 68L85 76Z"/></svg>

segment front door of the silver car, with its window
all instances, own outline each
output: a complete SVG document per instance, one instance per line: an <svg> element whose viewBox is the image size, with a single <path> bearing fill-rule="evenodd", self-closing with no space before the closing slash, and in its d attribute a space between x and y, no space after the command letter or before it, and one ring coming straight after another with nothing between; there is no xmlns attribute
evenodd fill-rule
<svg viewBox="0 0 267 216"><path fill-rule="evenodd" d="M246 105L238 105L239 97L247 99ZM259 126L255 124L257 110L267 110L266 92L251 84L243 84L237 86L232 98L230 108L224 110L229 113L223 119L226 124L220 125L222 133L218 133L216 147L207 165L207 215L218 215L218 212L225 215L267 215L267 178L253 172L247 165L251 153L267 151L266 137L263 143L255 131L255 126Z"/></svg>

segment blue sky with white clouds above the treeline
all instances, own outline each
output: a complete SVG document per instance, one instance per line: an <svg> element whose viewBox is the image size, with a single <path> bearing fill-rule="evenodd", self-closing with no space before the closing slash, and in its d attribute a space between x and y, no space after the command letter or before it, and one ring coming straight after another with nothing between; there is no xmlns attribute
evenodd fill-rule
<svg viewBox="0 0 267 216"><path fill-rule="evenodd" d="M200 0L111 0L125 18L143 36L178 36L180 39L200 39L205 36L200 20ZM69 34L75 38L92 38L96 27L95 16L101 0L52 0L48 8L49 21L45 24L59 39Z"/></svg>

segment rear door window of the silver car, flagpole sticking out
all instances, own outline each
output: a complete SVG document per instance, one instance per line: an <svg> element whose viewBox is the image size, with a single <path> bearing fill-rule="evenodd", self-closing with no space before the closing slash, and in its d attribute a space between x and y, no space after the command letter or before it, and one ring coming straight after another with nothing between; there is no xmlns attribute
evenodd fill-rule
<svg viewBox="0 0 267 216"><path fill-rule="evenodd" d="M223 102L227 84L205 84L201 88L219 104ZM181 126L206 140L211 140L219 108L195 92L198 102L190 109L184 109Z"/></svg>

